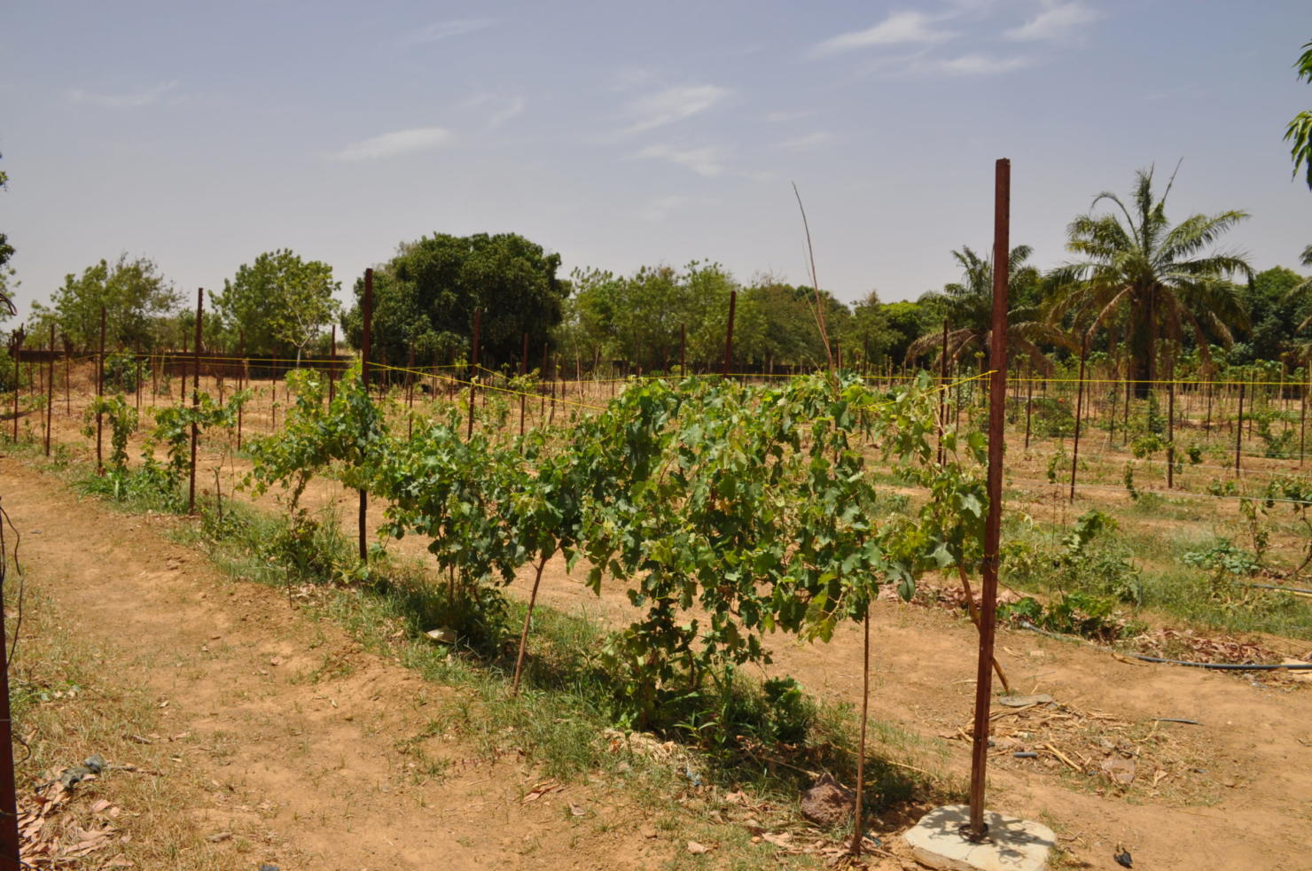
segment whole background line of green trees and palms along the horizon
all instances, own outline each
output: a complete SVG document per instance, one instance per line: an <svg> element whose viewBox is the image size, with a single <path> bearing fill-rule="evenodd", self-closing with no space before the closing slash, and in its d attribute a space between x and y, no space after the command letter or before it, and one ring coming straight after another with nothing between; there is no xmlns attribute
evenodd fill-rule
<svg viewBox="0 0 1312 871"><path fill-rule="evenodd" d="M1047 273L1033 251L1013 249L1009 341L1015 359L1044 370L1081 349L1124 358L1124 373L1160 374L1158 348L1224 354L1229 363L1308 355L1312 282L1277 266L1254 273L1223 247L1245 213L1168 218L1174 177L1136 173L1128 197L1105 192L1068 228L1071 260ZM980 251L984 251L981 248ZM970 369L989 341L993 265L967 245L949 254L960 279L914 300L886 303L871 290L848 304L832 293L761 274L739 282L715 262L642 266L631 274L576 269L559 275L560 256L516 233L433 233L401 243L375 268L375 359L416 366L467 363L475 311L482 311L482 362L518 367L523 336L529 367L543 348L565 371L577 363L622 363L644 373L716 370L736 294L732 366L743 371L823 367L829 345L844 366L939 365L943 328L949 362ZM1304 252L1304 265L1312 254ZM299 361L328 350L332 325L350 348L361 341L363 279L345 308L332 268L278 249L255 257L206 299L203 346L216 353ZM26 324L37 341L54 323L68 349L98 344L100 311L115 349L180 349L194 331L194 298L147 257L101 260L70 273ZM1215 353L1214 353L1215 349ZM1204 362L1206 362L1204 359Z"/></svg>

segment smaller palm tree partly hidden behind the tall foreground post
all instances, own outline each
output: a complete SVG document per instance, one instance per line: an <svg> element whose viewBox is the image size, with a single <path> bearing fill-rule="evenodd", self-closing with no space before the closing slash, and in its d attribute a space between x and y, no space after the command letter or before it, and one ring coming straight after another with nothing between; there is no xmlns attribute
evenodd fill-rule
<svg viewBox="0 0 1312 871"><path fill-rule="evenodd" d="M1042 281L1039 270L1026 261L1034 252L1029 245L1017 245L1008 257L1006 274L1012 299L1030 299ZM942 294L926 294L930 299L943 300L947 314L947 358L956 361L970 349L988 352L993 337L993 264L984 260L970 247L962 245L953 257L962 268L962 281L943 286ZM921 302L926 302L926 296ZM1030 357L1040 371L1052 369L1051 361L1043 354L1038 342L1047 341L1072 346L1069 338L1059 328L1040 319L1038 307L1012 306L1006 317L1006 344L1013 352ZM913 341L907 349L907 359L928 354L938 349L943 336L930 331Z"/></svg>

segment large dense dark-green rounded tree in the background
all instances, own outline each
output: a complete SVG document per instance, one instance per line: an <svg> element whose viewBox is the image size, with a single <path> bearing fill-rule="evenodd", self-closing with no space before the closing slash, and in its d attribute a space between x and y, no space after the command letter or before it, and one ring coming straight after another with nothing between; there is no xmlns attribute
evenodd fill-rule
<svg viewBox="0 0 1312 871"><path fill-rule="evenodd" d="M499 363L518 361L523 333L529 359L560 323L568 282L556 278L560 256L516 233L450 236L434 233L400 245L374 270L373 353L375 359L417 365L466 355L474 312L483 310L482 353ZM346 340L359 348L363 279L356 304L342 315Z"/></svg>

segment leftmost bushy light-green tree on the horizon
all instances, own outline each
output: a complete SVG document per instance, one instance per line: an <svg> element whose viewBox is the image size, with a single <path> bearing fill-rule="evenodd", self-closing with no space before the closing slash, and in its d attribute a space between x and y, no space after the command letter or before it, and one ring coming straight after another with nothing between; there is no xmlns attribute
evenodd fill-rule
<svg viewBox="0 0 1312 871"><path fill-rule="evenodd" d="M119 254L88 266L81 275L70 273L51 296L59 331L77 348L100 344L100 310L105 308L106 344L113 348L154 348L156 319L180 304L173 283L148 257L129 260ZM45 307L33 310L41 316Z"/></svg>

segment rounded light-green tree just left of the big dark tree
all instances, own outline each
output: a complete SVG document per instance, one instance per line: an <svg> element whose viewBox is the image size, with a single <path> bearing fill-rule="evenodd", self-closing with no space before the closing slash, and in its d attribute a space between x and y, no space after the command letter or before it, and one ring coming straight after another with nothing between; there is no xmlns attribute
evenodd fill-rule
<svg viewBox="0 0 1312 871"><path fill-rule="evenodd" d="M295 350L299 366L306 348L337 316L341 306L333 293L340 287L332 266L304 261L283 248L243 264L236 277L223 282L214 306L247 352L282 355Z"/></svg>

